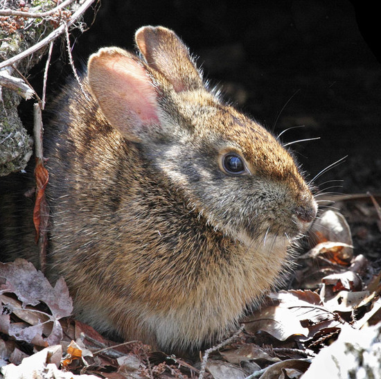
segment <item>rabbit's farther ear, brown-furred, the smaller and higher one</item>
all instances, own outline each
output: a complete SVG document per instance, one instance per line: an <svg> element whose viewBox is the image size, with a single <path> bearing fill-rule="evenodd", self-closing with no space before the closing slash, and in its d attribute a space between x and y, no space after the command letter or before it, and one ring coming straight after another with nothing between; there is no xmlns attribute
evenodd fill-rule
<svg viewBox="0 0 381 379"><path fill-rule="evenodd" d="M148 66L162 73L175 91L204 87L188 48L172 30L143 26L136 31L135 40Z"/></svg>

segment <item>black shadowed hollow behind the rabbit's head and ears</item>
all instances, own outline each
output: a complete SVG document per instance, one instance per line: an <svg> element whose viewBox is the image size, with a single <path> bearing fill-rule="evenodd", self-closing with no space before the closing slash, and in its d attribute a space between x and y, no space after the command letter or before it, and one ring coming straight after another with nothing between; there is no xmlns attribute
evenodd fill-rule
<svg viewBox="0 0 381 379"><path fill-rule="evenodd" d="M134 49L140 26L172 28L199 57L206 78L243 112L274 134L305 125L285 132L285 143L321 137L292 146L310 178L348 155L317 179L321 189L339 184L342 188L332 191L376 193L381 191L381 65L372 44L380 40L380 28L375 8L363 3L103 0L91 28L83 35L73 32L73 56L77 67L85 67L101 46ZM88 25L93 18L89 10ZM51 95L70 72L59 47ZM344 182L324 184L333 179Z"/></svg>

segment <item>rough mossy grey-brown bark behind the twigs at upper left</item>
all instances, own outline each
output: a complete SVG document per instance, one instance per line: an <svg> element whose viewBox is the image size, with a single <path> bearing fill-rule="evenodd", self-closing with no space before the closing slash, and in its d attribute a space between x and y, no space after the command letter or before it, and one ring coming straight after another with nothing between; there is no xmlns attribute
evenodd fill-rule
<svg viewBox="0 0 381 379"><path fill-rule="evenodd" d="M56 4L51 0L8 0L1 3L3 9L28 12L45 12L54 6ZM33 46L51 33L53 28L51 19L0 17L0 62ZM26 76L28 71L42 59L45 52L46 48L39 50L13 66ZM11 76L19 78L13 67L5 69ZM21 96L6 87L0 87L0 95L0 176L3 176L25 168L32 155L33 139L28 136L17 113Z"/></svg>

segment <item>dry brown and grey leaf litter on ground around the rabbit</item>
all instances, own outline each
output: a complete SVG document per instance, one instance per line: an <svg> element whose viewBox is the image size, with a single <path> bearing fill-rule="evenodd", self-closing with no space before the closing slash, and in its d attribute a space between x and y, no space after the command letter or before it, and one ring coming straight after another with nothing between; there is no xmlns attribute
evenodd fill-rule
<svg viewBox="0 0 381 379"><path fill-rule="evenodd" d="M71 317L64 279L52 286L22 259L1 264L3 378L381 378L378 197L339 207L314 223L287 288L267 294L242 332L205 356L108 340Z"/></svg>

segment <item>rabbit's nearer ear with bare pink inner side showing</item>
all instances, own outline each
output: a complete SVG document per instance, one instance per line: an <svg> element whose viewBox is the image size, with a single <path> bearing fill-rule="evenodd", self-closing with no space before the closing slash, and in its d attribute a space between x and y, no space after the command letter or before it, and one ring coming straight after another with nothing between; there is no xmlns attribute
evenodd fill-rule
<svg viewBox="0 0 381 379"><path fill-rule="evenodd" d="M134 55L100 49L89 59L88 78L107 121L128 138L140 141L142 127L159 123L157 93Z"/></svg>

